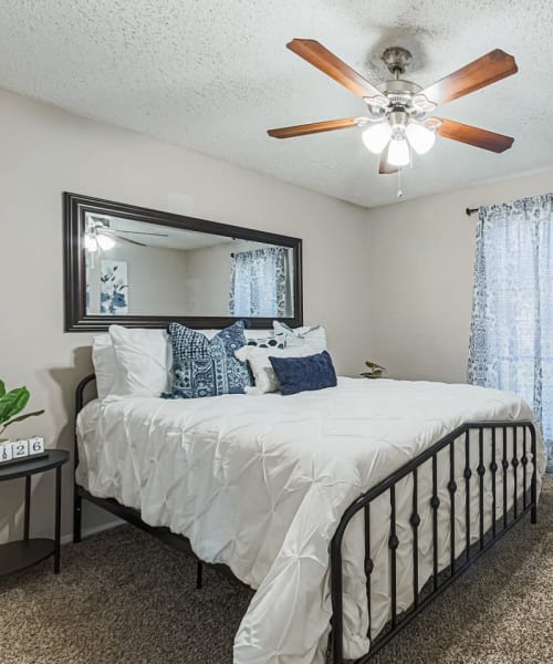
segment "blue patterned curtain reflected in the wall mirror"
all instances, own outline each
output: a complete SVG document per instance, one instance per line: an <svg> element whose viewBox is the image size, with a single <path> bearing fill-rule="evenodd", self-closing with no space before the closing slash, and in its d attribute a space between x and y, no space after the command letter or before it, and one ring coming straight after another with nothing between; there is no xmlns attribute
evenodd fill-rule
<svg viewBox="0 0 553 664"><path fill-rule="evenodd" d="M230 274L231 315L292 315L288 253L285 247L268 247L234 253Z"/></svg>

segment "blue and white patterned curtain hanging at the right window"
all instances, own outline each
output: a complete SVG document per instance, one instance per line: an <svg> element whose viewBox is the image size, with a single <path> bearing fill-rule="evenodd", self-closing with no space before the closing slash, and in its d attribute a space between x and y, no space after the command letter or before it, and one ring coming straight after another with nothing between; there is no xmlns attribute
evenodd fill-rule
<svg viewBox="0 0 553 664"><path fill-rule="evenodd" d="M553 471L553 194L480 208L469 383L533 408Z"/></svg>

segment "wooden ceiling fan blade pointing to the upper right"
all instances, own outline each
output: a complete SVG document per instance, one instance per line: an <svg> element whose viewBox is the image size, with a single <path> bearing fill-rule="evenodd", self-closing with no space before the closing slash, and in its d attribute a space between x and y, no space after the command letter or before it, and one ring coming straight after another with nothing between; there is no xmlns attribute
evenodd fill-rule
<svg viewBox="0 0 553 664"><path fill-rule="evenodd" d="M430 102L447 104L519 71L512 55L495 49L422 90Z"/></svg>

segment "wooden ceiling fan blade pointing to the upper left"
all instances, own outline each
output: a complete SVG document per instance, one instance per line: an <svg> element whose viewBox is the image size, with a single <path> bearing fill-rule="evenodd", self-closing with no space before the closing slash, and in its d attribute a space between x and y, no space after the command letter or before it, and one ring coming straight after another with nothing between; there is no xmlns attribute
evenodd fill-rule
<svg viewBox="0 0 553 664"><path fill-rule="evenodd" d="M357 96L382 96L378 89L314 39L293 39L286 48Z"/></svg>

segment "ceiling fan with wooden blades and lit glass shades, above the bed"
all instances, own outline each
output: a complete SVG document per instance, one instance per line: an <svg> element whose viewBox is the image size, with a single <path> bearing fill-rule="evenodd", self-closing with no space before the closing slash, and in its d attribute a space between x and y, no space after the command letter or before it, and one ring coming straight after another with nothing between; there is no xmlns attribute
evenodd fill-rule
<svg viewBox="0 0 553 664"><path fill-rule="evenodd" d="M401 77L411 61L411 54L400 46L384 51L382 59L394 79L378 85L366 81L315 40L293 39L286 46L363 98L368 115L269 129L269 136L293 138L306 134L363 127L363 142L367 149L380 155L378 172L383 174L397 173L403 166L407 166L410 163L411 148L417 154L427 153L436 141L436 134L495 153L502 153L513 144L514 138L503 134L444 117L428 117L436 106L514 74L518 71L514 58L500 49L490 51L449 76L422 89Z"/></svg>

